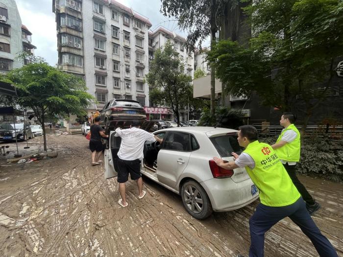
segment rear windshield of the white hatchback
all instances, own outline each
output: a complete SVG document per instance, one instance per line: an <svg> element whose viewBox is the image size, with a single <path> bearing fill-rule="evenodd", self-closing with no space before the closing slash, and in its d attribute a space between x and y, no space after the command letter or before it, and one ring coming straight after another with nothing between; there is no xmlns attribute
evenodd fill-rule
<svg viewBox="0 0 343 257"><path fill-rule="evenodd" d="M237 135L213 137L210 140L221 157L230 157L232 152L238 155L242 153L243 148L238 144Z"/></svg>

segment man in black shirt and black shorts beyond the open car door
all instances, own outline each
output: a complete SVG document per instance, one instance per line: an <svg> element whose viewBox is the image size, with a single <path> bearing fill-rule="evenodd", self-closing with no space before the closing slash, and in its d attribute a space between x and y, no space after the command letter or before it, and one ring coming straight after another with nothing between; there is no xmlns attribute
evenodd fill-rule
<svg viewBox="0 0 343 257"><path fill-rule="evenodd" d="M103 133L101 126L99 125L101 118L98 116L94 119L94 124L91 125L91 140L89 141L89 149L92 151L92 165L99 165L102 163L100 159L103 145L101 137L108 138L108 135Z"/></svg>

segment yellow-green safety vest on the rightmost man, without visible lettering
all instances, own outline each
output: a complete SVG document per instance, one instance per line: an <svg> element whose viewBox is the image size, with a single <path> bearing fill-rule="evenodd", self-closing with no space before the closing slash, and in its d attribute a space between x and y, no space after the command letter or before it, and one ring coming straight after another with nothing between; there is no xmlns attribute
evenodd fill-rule
<svg viewBox="0 0 343 257"><path fill-rule="evenodd" d="M294 126L294 124L289 125L285 128L276 142L279 142L283 135L286 133L287 130L293 130L296 133L296 138L284 146L275 149L277 156L280 160L288 161L288 162L299 162L300 160L300 133L298 129Z"/></svg>

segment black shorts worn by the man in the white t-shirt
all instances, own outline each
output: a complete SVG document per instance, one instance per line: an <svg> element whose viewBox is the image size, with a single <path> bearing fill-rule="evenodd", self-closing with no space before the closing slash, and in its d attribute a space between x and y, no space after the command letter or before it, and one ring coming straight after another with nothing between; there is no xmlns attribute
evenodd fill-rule
<svg viewBox="0 0 343 257"><path fill-rule="evenodd" d="M128 180L129 173L132 180L142 177L141 161L139 159L133 161L118 159L118 182L125 183Z"/></svg>

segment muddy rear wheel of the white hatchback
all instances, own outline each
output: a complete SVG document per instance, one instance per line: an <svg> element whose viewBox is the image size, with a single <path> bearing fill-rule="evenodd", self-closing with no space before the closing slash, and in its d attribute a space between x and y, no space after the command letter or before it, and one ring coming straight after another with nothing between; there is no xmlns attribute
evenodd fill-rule
<svg viewBox="0 0 343 257"><path fill-rule="evenodd" d="M186 210L196 219L205 219L212 214L210 199L196 181L188 180L182 185L181 198Z"/></svg>

